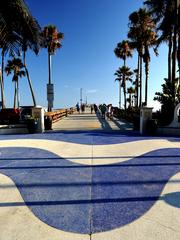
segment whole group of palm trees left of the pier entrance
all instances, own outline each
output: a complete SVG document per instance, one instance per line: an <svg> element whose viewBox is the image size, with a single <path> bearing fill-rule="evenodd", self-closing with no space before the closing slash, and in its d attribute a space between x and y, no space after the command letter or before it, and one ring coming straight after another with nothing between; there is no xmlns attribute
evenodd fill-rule
<svg viewBox="0 0 180 240"><path fill-rule="evenodd" d="M13 13L13 14L12 14ZM14 108L18 100L18 79L27 76L33 105L36 106L36 99L32 87L32 81L26 63L27 50L32 50L36 55L40 49L47 48L48 59L61 47L63 33L57 28L49 25L41 29L37 20L32 16L24 0L2 0L0 9L0 48L1 48L1 71L0 88L2 108L5 108L4 96L4 70L7 74L13 73L12 80L15 82ZM5 67L5 57L9 60ZM19 57L22 56L22 59ZM49 64L49 83L51 83L51 68ZM51 108L48 108L51 111Z"/></svg>

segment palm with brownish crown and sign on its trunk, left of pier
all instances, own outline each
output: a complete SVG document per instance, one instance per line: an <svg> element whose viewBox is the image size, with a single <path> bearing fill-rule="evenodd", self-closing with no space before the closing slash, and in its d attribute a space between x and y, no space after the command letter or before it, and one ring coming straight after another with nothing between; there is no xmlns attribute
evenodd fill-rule
<svg viewBox="0 0 180 240"><path fill-rule="evenodd" d="M58 32L57 28L53 25L44 27L42 32L43 37L43 47L48 50L48 69L49 69L49 81L47 84L47 92L49 89L52 91L51 94L48 94L48 111L52 111L52 102L53 102L53 85L51 81L51 56L54 55L55 51L60 48L61 40L64 37L64 34ZM51 96L51 99L50 99Z"/></svg>

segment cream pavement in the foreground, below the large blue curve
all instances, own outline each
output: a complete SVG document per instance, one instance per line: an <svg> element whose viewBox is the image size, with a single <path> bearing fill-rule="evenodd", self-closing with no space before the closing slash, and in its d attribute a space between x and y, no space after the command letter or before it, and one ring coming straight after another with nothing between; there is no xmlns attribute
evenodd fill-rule
<svg viewBox="0 0 180 240"><path fill-rule="evenodd" d="M97 233L92 240L177 240L180 239L180 208L167 204L166 194L180 190L180 173L174 175L167 183L159 201L136 221L112 231ZM14 185L6 188L3 185ZM173 196L173 195L172 195ZM173 198L173 197L172 197ZM180 199L169 199L180 206ZM30 209L25 206L14 206L23 203L23 199L13 181L0 174L0 240L89 240L89 235L67 233L57 230L40 221ZM3 206L12 204L13 206Z"/></svg>

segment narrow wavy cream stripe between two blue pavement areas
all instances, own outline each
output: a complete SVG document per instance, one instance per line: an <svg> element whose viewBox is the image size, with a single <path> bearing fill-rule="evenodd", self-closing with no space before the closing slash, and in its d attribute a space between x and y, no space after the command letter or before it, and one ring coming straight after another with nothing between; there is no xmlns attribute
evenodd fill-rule
<svg viewBox="0 0 180 240"><path fill-rule="evenodd" d="M84 145L53 140L1 140L0 147L32 147L44 149L80 164L111 164L163 148L180 148L180 142L166 139L139 140L110 145Z"/></svg>

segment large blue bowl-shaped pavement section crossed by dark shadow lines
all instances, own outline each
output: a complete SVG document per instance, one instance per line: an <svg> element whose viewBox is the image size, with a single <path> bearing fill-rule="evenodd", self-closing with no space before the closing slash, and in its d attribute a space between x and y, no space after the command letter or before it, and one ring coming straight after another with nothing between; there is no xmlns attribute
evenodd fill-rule
<svg viewBox="0 0 180 240"><path fill-rule="evenodd" d="M176 148L101 166L75 164L45 150L0 149L0 173L16 183L34 214L51 226L77 233L108 231L138 219L177 172L180 151ZM13 205L22 203L0 203Z"/></svg>

